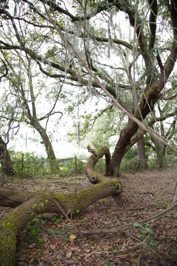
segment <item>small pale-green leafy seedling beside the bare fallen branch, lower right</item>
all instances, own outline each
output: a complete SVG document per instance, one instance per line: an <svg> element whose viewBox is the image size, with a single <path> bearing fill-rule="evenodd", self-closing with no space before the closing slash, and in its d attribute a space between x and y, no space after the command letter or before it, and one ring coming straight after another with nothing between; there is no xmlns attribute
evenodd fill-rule
<svg viewBox="0 0 177 266"><path fill-rule="evenodd" d="M148 227L149 226L148 223L146 223L145 227L142 226L140 223L134 223L133 226L140 226L143 229L141 230L141 234L138 235L138 238L141 237L147 240L146 242L144 242L143 248L148 247L148 250L150 250L152 246L157 246L159 241L153 241L153 239L149 237L149 235L155 235L155 233Z"/></svg>

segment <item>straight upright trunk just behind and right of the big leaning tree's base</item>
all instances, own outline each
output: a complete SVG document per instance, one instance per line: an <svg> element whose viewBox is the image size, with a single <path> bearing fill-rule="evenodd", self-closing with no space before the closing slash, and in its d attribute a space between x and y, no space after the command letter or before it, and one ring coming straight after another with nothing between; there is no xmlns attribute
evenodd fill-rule
<svg viewBox="0 0 177 266"><path fill-rule="evenodd" d="M137 142L137 150L138 150L138 164L141 169L148 168L147 160L146 160L146 150L145 150L145 141L144 136Z"/></svg>

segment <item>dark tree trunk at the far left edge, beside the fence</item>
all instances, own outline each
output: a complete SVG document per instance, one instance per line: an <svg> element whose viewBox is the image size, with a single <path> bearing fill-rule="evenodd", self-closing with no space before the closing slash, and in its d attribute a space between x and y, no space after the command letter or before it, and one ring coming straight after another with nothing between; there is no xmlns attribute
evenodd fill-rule
<svg viewBox="0 0 177 266"><path fill-rule="evenodd" d="M0 160L1 160L3 174L7 176L13 176L15 174L15 170L11 162L10 154L7 150L7 144L3 141L1 136L0 136Z"/></svg>

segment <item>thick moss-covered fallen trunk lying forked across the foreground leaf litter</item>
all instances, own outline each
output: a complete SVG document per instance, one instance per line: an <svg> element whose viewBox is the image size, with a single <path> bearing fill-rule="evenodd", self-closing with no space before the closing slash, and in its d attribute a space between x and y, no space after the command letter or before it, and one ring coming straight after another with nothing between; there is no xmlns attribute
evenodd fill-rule
<svg viewBox="0 0 177 266"><path fill-rule="evenodd" d="M92 150L93 151L93 150ZM93 156L102 157L105 153L109 156L109 149L101 147L93 154L88 164L92 166L96 160ZM103 154L104 153L104 154ZM102 155L102 156L101 156ZM94 163L92 163L94 161ZM92 171L88 171L91 173ZM89 176L90 178L90 176ZM97 180L98 181L98 180ZM122 193L123 184L118 179L108 180L104 177L103 182L81 189L76 193L59 194L48 192L24 192L17 189L8 189L0 186L0 205L15 208L0 220L0 265L15 266L16 234L23 229L25 224L34 218L34 209L39 213L57 213L62 215L62 210L67 213L80 213L93 202ZM58 208L58 205L61 207Z"/></svg>

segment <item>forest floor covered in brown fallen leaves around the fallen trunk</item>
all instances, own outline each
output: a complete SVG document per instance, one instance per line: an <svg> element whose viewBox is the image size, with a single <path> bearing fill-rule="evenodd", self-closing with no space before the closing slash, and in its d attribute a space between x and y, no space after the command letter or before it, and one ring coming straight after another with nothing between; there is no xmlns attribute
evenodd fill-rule
<svg viewBox="0 0 177 266"><path fill-rule="evenodd" d="M124 190L117 198L98 200L81 214L72 217L78 230L114 229L136 223L166 209L173 196L177 168L126 172ZM11 180L12 181L12 180ZM48 188L59 193L75 192L91 185L86 176L28 177L14 179L10 187L25 191ZM0 218L10 209L0 207ZM73 225L55 214L42 214L41 221L51 233L41 232L36 221L17 235L16 265L97 266L97 265L176 265L177 212L171 210L155 223L121 233L75 234ZM28 231L28 232L27 232ZM138 237L138 235L141 235ZM148 238L149 236L149 238ZM138 240L149 246L140 244ZM152 242L151 242L152 240ZM150 247L152 246L152 249ZM154 252L155 251L155 252Z"/></svg>

